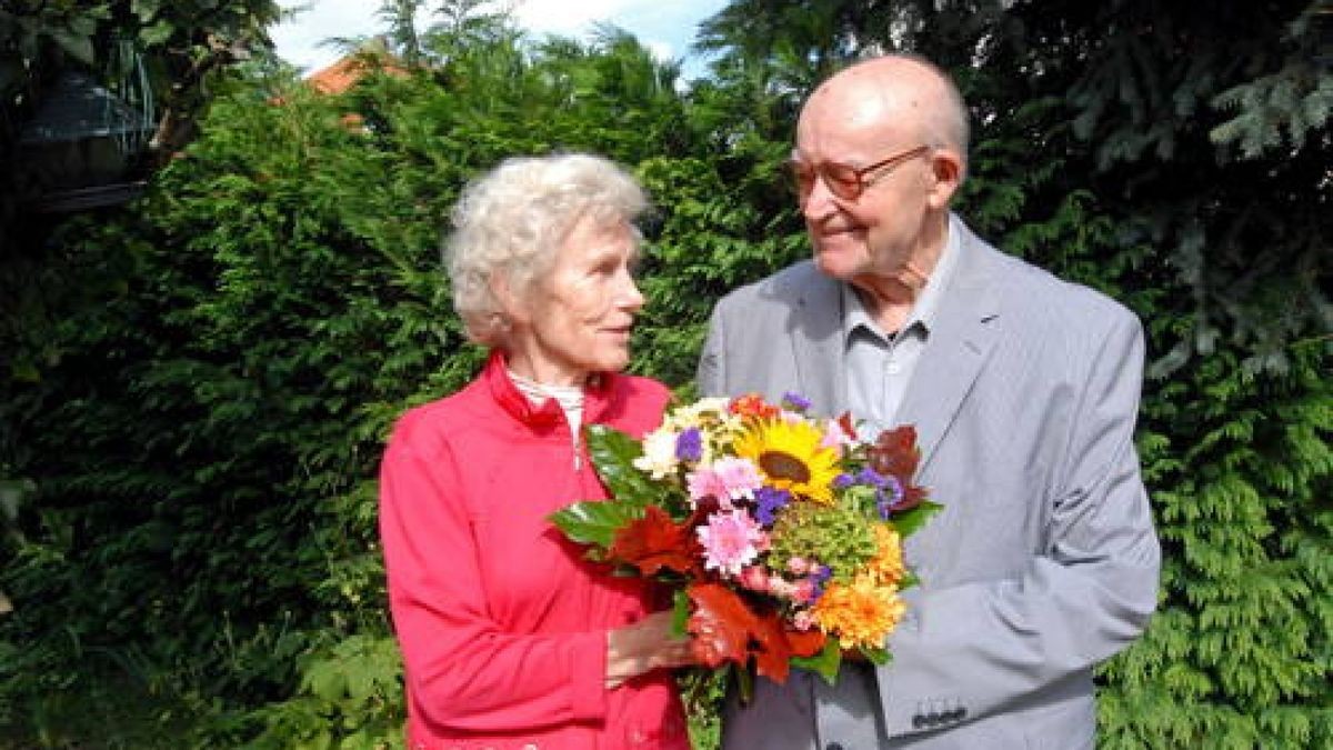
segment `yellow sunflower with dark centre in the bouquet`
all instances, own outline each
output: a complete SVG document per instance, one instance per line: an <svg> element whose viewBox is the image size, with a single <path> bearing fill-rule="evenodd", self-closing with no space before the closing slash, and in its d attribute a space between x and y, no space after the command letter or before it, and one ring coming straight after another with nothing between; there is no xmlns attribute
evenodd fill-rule
<svg viewBox="0 0 1333 750"><path fill-rule="evenodd" d="M768 484L824 504L833 503L837 450L822 447L824 432L809 422L756 419L733 450L758 466Z"/></svg>

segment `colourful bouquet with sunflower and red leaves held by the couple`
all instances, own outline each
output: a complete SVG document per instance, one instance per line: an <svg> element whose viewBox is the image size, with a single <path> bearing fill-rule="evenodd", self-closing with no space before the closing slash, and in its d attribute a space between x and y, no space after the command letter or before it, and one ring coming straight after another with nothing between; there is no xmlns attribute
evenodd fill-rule
<svg viewBox="0 0 1333 750"><path fill-rule="evenodd" d="M588 556L676 590L677 623L708 667L784 682L833 681L844 651L884 663L916 579L902 539L940 506L912 483L910 426L858 438L794 394L706 398L670 410L643 442L588 428L609 500L552 520Z"/></svg>

